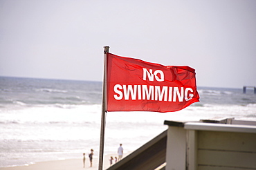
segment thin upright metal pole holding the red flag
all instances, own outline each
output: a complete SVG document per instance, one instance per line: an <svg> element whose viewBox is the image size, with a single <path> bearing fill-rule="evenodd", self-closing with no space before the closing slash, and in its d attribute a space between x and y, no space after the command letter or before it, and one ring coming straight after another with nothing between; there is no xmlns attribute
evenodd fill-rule
<svg viewBox="0 0 256 170"><path fill-rule="evenodd" d="M104 75L103 75L103 87L102 87L102 115L101 115L101 127L100 127L100 154L99 154L99 166L98 170L103 169L104 158L104 135L106 124L106 112L107 112L107 53L109 53L109 46L104 46Z"/></svg>

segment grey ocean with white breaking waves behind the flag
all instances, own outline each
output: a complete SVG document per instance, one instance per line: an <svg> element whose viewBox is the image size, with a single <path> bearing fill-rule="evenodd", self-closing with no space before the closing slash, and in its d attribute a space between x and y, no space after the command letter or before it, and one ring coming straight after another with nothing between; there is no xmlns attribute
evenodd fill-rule
<svg viewBox="0 0 256 170"><path fill-rule="evenodd" d="M256 94L198 87L200 101L172 113L109 112L104 154L128 153L165 131L165 120L256 121ZM102 82L0 77L0 167L86 157L100 143Z"/></svg>

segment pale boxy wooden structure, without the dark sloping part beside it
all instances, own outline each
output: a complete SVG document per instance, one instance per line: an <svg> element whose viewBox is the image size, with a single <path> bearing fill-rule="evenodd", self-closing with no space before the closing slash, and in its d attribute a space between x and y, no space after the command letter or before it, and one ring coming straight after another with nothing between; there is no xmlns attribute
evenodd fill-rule
<svg viewBox="0 0 256 170"><path fill-rule="evenodd" d="M168 125L165 168L256 169L256 122L232 119L213 122L165 121Z"/></svg>

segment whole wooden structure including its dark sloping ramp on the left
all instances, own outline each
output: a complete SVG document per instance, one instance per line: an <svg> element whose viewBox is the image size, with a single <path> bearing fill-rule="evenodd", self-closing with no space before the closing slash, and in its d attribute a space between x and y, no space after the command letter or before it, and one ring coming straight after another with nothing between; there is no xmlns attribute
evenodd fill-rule
<svg viewBox="0 0 256 170"><path fill-rule="evenodd" d="M167 131L127 155L113 169L256 169L256 122L234 119L165 121Z"/></svg>

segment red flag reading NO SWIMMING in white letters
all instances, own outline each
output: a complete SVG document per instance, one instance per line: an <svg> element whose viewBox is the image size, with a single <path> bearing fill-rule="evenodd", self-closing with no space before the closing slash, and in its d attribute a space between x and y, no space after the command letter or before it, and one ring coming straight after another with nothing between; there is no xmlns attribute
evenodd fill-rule
<svg viewBox="0 0 256 170"><path fill-rule="evenodd" d="M179 111L199 102L194 68L107 53L107 111Z"/></svg>

